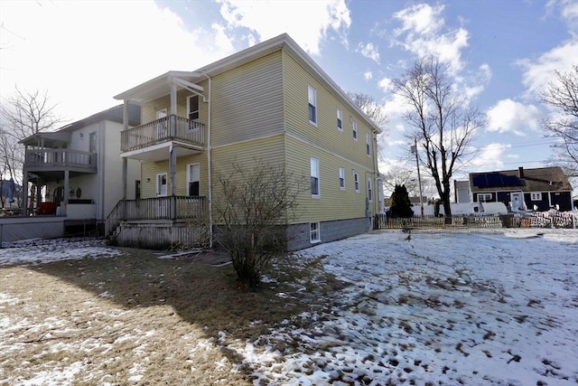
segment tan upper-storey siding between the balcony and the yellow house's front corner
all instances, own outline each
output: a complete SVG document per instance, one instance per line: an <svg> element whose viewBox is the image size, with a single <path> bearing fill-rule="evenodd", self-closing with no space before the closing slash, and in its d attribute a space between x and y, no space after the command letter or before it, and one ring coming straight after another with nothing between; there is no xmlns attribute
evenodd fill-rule
<svg viewBox="0 0 578 386"><path fill-rule="evenodd" d="M281 52L212 79L212 145L283 132Z"/></svg>

